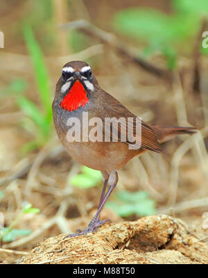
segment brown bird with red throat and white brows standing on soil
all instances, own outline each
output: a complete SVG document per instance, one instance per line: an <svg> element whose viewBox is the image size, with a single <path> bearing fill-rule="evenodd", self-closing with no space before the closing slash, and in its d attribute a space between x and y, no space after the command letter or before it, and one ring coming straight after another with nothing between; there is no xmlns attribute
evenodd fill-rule
<svg viewBox="0 0 208 278"><path fill-rule="evenodd" d="M139 117L101 88L91 67L79 60L62 67L52 110L58 138L69 155L81 165L100 170L104 179L98 210L87 229L67 237L96 232L107 221L100 220L101 211L118 182L118 170L131 158L147 151L162 153L163 142L179 134L196 132L193 126L163 126L139 121ZM110 125L106 119L108 122L110 119ZM130 137L126 132L128 123L132 131ZM137 127L140 133L136 132ZM92 140L89 140L90 132ZM98 133L101 140L98 140Z"/></svg>

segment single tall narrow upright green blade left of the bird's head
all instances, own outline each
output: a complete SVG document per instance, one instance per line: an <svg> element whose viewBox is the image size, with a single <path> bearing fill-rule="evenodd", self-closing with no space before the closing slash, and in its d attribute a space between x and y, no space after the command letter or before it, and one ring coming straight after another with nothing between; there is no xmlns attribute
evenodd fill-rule
<svg viewBox="0 0 208 278"><path fill-rule="evenodd" d="M32 59L35 81L37 83L37 88L42 101L44 112L46 115L52 118L49 74L44 63L42 51L35 40L31 26L24 27L24 39Z"/></svg>

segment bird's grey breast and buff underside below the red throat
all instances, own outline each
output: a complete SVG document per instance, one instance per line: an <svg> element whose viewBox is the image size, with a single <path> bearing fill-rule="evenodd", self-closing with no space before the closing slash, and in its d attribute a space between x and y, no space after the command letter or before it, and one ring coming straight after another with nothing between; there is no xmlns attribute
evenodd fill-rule
<svg viewBox="0 0 208 278"><path fill-rule="evenodd" d="M80 124L76 128L73 128L72 132L72 122L73 120L76 122L76 119ZM85 121L83 120L83 111L69 113L59 106L54 105L53 121L58 137L70 156L78 161L78 163L95 170L119 170L132 157L141 152L141 149L129 149L128 144L124 142L105 142L104 138L101 138L101 142L92 142L94 138L90 138L90 134L96 133L93 130L95 127L86 126L85 122L83 124L83 121ZM101 131L100 134L103 135L102 126L96 125L96 129L98 132ZM91 133L91 131L93 132ZM86 134L88 134L87 138L85 137ZM69 135L75 136L76 141L70 141ZM83 142L83 138L87 142Z"/></svg>

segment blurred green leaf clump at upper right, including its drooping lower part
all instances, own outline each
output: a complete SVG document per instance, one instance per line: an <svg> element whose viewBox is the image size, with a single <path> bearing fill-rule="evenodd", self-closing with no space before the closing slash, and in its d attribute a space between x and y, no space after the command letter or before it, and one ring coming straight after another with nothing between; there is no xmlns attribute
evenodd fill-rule
<svg viewBox="0 0 208 278"><path fill-rule="evenodd" d="M161 51L167 58L168 68L173 70L177 50L192 51L191 40L199 31L200 17L198 13L166 15L153 9L129 8L114 15L113 25L119 33L145 43L144 54Z"/></svg>

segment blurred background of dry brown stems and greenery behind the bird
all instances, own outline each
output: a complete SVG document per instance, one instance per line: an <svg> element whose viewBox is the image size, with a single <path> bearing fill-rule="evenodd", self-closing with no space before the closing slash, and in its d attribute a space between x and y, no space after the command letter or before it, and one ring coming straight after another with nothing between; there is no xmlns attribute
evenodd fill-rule
<svg viewBox="0 0 208 278"><path fill-rule="evenodd" d="M203 1L198 9L193 1L187 6L182 0L173 2L1 1L5 47L0 49L0 211L4 227L10 227L25 204L40 209L38 214L21 215L14 226L29 229L30 236L38 231L37 235L3 240L0 234L4 247L28 250L46 236L85 228L96 211L102 181L89 188L71 184L71 177L82 173L82 168L60 145L48 107L62 65L69 60L87 61L101 87L144 121L199 129L193 136L167 142L163 155L147 153L125 165L111 201L118 201L120 191L145 191L154 213L179 216L207 235L202 213L208 209L208 60L201 42L202 33L208 31L208 8L206 3L203 8ZM153 40L152 27L139 22L140 10L145 10L147 22L158 19L155 27L153 22L157 33ZM85 20L82 28L77 22L73 28L60 26L80 19ZM195 22L195 28L190 22ZM149 36L142 34L141 24ZM103 31L107 32L104 37ZM144 215L148 215L145 210L123 216L107 206L102 218L120 222ZM8 258L0 254L3 260Z"/></svg>

